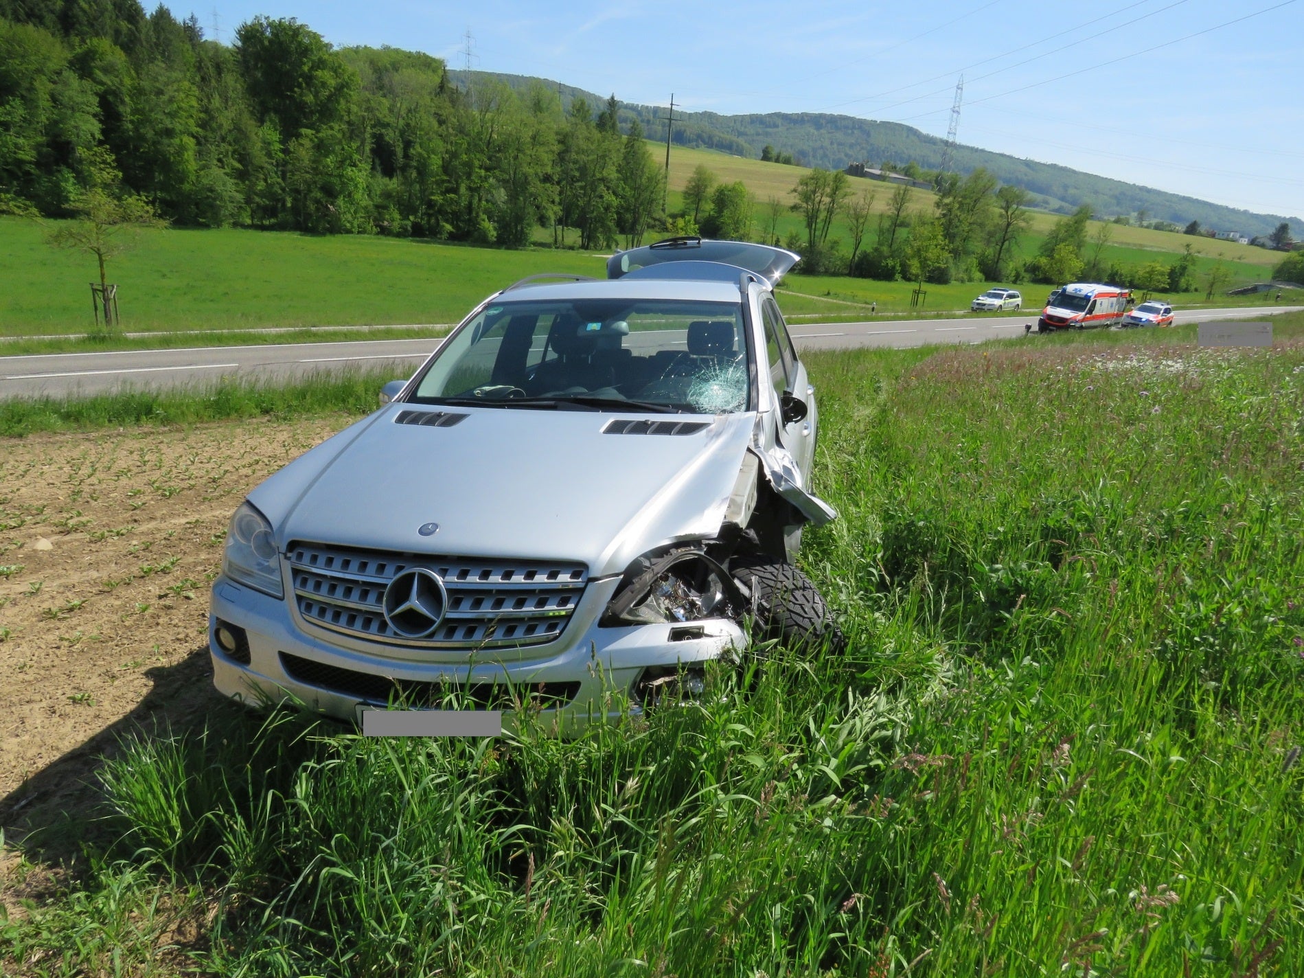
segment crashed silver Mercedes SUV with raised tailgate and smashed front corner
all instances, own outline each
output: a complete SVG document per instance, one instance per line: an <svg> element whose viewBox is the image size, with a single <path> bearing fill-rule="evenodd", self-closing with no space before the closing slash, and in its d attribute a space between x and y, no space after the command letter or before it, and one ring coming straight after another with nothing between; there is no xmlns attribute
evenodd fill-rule
<svg viewBox="0 0 1304 978"><path fill-rule="evenodd" d="M748 636L836 647L793 566L836 515L772 293L798 259L672 239L486 299L236 510L216 687L340 719L454 692L566 730L692 696Z"/></svg>

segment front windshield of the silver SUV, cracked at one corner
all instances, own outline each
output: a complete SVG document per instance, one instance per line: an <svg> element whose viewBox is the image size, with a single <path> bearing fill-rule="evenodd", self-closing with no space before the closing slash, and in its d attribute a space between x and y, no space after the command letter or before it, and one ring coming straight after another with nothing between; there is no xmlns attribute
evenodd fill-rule
<svg viewBox="0 0 1304 978"><path fill-rule="evenodd" d="M415 400L730 413L748 393L738 303L580 300L490 305L449 342Z"/></svg>

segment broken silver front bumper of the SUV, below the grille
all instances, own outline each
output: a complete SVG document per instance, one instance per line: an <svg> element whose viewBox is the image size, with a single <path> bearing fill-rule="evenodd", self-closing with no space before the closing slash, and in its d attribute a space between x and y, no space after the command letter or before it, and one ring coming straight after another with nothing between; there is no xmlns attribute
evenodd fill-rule
<svg viewBox="0 0 1304 978"><path fill-rule="evenodd" d="M537 683L544 683L545 691L548 687L578 683L578 691L569 702L540 712L540 720L557 733L575 734L595 720L614 720L627 713L634 702L634 685L645 668L704 662L746 644L742 629L724 618L692 622L691 629L673 625L599 627L597 619L618 583L617 579L589 582L575 617L561 638L527 649L528 657L515 659L520 655L519 649L514 649L510 659L496 659L493 651L468 651L458 661L449 661L450 656L442 655L442 661L421 662L411 657L412 649L402 649L406 657L398 659L387 655L381 644L364 652L310 634L300 627L288 601L219 576L213 584L209 612L214 685L219 692L245 703L297 699L309 708L352 721L359 717L361 707L386 705L379 696L356 692L359 686L374 687L373 677L459 687L480 683L537 687ZM219 619L245 631L248 665L222 651L214 636ZM672 632L675 632L674 638ZM287 664L303 660L326 666L314 670L314 675L343 675L347 672L364 682L340 683L329 678L321 685L305 682L287 669ZM372 682L365 682L368 678ZM353 686L355 691L340 686ZM510 726L507 715L503 722Z"/></svg>

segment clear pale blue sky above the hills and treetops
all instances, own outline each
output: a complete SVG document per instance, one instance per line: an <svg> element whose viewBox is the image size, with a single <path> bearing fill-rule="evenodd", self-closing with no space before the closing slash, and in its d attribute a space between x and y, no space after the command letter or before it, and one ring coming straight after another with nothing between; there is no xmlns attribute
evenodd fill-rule
<svg viewBox="0 0 1304 978"><path fill-rule="evenodd" d="M469 30L484 70L626 102L674 93L686 110L842 112L938 136L962 72L961 142L1304 216L1304 0L206 3L196 13L226 42L265 13L335 44L460 68Z"/></svg>

